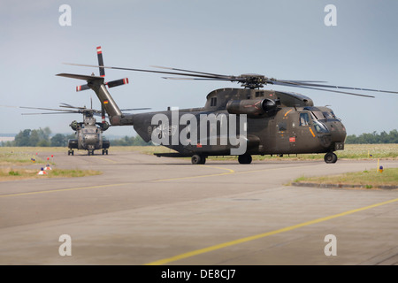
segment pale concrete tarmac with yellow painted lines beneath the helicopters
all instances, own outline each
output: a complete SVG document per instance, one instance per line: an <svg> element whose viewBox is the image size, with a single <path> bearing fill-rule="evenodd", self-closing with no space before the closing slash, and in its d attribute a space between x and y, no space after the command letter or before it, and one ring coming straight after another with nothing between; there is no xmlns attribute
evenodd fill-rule
<svg viewBox="0 0 398 283"><path fill-rule="evenodd" d="M396 189L286 185L375 160L193 165L110 149L55 161L103 174L0 182L0 264L398 264Z"/></svg>

